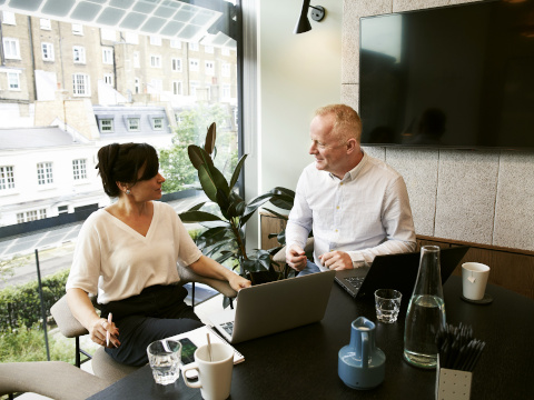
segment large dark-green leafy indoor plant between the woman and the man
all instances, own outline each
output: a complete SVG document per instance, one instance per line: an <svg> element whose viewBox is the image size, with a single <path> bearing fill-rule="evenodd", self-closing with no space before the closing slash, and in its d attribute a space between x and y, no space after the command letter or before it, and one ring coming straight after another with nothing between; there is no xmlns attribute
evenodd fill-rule
<svg viewBox="0 0 534 400"><path fill-rule="evenodd" d="M247 253L245 248L245 224L256 210L270 202L271 204L290 210L295 192L285 188L274 188L268 192L251 199L248 203L235 189L237 179L245 163L247 154L244 154L227 181L225 176L215 167L216 156L216 124L208 128L204 147L190 144L188 156L191 164L198 171L198 179L206 197L217 206L218 212L202 210L207 201L200 202L189 210L179 214L187 223L200 223L206 230L200 233L196 243L202 253L222 263L227 260L236 260L234 269L239 268L239 274L251 280L253 284L265 281L285 279L294 276L294 270L284 266L280 268L271 260L271 256L280 247L270 250L256 249ZM269 210L277 216L275 211ZM284 240L280 236L279 240ZM280 242L281 244L284 242ZM277 268L275 268L277 267Z"/></svg>

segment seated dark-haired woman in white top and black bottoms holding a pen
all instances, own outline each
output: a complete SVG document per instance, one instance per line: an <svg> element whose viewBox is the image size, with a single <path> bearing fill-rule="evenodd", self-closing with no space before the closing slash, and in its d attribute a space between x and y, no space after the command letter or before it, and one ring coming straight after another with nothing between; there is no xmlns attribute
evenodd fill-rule
<svg viewBox="0 0 534 400"><path fill-rule="evenodd" d="M165 178L151 146L105 146L98 151L97 168L105 192L118 200L83 223L67 300L93 342L119 362L142 366L150 342L202 324L184 302L187 290L176 284L177 262L198 274L227 280L236 291L250 282L202 256L176 211L154 201L161 198ZM98 293L100 317L88 293Z"/></svg>

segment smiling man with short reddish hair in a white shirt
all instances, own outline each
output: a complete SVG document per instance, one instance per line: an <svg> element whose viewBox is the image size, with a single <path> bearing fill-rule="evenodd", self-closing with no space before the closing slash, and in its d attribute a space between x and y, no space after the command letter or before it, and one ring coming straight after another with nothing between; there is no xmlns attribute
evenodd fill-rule
<svg viewBox="0 0 534 400"><path fill-rule="evenodd" d="M360 148L362 121L345 104L319 108L309 128L315 162L298 180L286 227L286 262L299 276L370 264L375 256L415 251L403 177ZM314 232L314 261L304 246Z"/></svg>

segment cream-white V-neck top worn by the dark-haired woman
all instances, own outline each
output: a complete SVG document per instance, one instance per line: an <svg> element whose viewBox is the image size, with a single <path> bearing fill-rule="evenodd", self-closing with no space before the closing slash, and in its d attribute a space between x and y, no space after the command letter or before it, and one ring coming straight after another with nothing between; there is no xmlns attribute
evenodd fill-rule
<svg viewBox="0 0 534 400"><path fill-rule="evenodd" d="M105 209L93 212L78 236L67 289L98 292L98 302L105 304L150 286L178 282L177 262L187 267L202 253L172 207L152 204L146 237Z"/></svg>

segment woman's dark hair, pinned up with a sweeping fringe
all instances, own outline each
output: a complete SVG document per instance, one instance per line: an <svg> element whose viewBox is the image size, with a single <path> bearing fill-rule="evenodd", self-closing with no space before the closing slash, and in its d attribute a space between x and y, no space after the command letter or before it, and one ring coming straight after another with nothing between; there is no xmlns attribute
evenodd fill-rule
<svg viewBox="0 0 534 400"><path fill-rule="evenodd" d="M142 177L139 170L145 167ZM159 171L156 149L147 143L111 143L98 150L96 167L102 178L103 191L109 197L118 197L117 182L136 184L138 181L154 178Z"/></svg>

